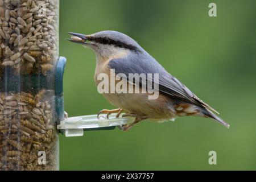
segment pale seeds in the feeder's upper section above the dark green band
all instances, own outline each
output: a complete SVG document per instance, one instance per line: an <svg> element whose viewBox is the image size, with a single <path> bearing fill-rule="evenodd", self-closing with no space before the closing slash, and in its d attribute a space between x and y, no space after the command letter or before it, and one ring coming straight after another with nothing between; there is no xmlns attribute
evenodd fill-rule
<svg viewBox="0 0 256 182"><path fill-rule="evenodd" d="M19 74L53 71L58 59L59 0L0 0L0 77L9 67ZM39 56L30 51L40 51ZM32 59L26 59L28 53ZM46 67L40 58L50 56ZM17 57L18 56L18 57ZM20 59L19 64L14 61ZM47 68L47 69L43 69Z"/></svg>

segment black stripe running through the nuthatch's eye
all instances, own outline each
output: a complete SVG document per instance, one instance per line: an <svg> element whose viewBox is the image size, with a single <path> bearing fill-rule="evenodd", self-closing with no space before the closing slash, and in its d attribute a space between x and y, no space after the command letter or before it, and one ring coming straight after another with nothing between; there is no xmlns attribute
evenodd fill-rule
<svg viewBox="0 0 256 182"><path fill-rule="evenodd" d="M127 49L130 49L132 51L138 51L137 47L133 46L133 45L130 45L130 44L125 44L125 43L122 43L120 41L115 41L113 39L109 39L109 38L93 38L93 37L90 37L88 40L93 40L97 43L100 43L100 44L106 44L106 45L113 45L113 46L117 46L117 47L121 47L121 48L127 48Z"/></svg>

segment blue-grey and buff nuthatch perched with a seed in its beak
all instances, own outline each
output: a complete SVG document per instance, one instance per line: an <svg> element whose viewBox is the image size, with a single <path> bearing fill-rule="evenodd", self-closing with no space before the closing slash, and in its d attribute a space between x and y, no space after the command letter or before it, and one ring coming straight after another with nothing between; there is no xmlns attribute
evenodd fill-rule
<svg viewBox="0 0 256 182"><path fill-rule="evenodd" d="M136 118L131 125L122 126L122 130L126 131L144 119L162 122L190 115L212 118L221 125L229 127L228 123L214 114L217 113L216 110L200 100L177 78L168 73L154 57L129 36L117 31L101 31L91 35L69 34L72 38L68 40L83 44L96 53L94 76L96 85L100 83L98 76L101 73L110 76L114 71L114 74L119 77L118 81L125 81L127 86L139 86L142 89L148 86L148 82L143 84L142 81L138 83L134 80L127 80L129 74L158 74L159 96L155 100L148 99L150 93L103 93L106 100L119 109L102 110L99 114L118 113L117 117L119 117L124 112L123 116ZM150 81L156 82L152 79Z"/></svg>

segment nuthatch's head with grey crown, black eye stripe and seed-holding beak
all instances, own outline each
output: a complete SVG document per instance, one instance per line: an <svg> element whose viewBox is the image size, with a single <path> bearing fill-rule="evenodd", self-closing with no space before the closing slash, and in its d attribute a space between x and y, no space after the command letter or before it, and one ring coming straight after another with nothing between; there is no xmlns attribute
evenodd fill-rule
<svg viewBox="0 0 256 182"><path fill-rule="evenodd" d="M93 49L97 56L108 59L118 57L129 52L142 52L143 49L135 40L117 31L101 31L96 34L84 35L69 33L72 35L71 42L79 43Z"/></svg>

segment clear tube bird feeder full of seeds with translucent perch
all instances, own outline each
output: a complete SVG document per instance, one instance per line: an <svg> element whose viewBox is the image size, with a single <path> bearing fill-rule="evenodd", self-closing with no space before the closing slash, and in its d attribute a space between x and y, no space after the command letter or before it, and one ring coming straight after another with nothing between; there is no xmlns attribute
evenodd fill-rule
<svg viewBox="0 0 256 182"><path fill-rule="evenodd" d="M64 118L59 0L0 0L0 24L0 170L57 170L59 133L133 121Z"/></svg>

